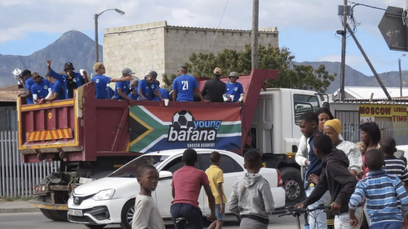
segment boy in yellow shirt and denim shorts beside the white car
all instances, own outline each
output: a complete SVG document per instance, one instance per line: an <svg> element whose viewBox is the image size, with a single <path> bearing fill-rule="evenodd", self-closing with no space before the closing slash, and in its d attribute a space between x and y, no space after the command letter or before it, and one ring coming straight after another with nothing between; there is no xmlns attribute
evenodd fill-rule
<svg viewBox="0 0 408 229"><path fill-rule="evenodd" d="M221 155L219 152L210 154L210 167L205 171L210 181L211 191L215 197L215 215L217 220L211 223L208 229L221 229L225 217L225 203L227 198L224 195L222 183L224 183L224 173L220 169Z"/></svg>

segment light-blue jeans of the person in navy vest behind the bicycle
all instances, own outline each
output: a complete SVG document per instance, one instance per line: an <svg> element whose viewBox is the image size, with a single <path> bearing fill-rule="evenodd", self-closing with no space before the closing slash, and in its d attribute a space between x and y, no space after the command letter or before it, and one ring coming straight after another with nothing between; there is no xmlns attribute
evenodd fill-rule
<svg viewBox="0 0 408 229"><path fill-rule="evenodd" d="M315 189L315 187L308 187L305 192L306 192L306 197L310 196L310 194L312 193L313 189ZM330 193L327 191L322 198L320 198L320 200L317 200L315 203L311 204L308 206L308 209L313 209L321 204L324 204L325 206L327 206L330 203ZM316 218L316 220L313 218ZM327 225L326 225L326 213L324 213L321 210L316 210L313 211L309 214L309 227L310 228L314 228L315 226L315 222L317 223L317 228L319 229L327 229Z"/></svg>

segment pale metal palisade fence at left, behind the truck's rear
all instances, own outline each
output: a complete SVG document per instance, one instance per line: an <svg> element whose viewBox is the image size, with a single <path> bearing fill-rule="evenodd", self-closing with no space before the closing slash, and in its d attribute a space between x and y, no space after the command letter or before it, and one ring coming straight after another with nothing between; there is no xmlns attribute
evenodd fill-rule
<svg viewBox="0 0 408 229"><path fill-rule="evenodd" d="M58 171L59 166L59 161L21 163L17 132L0 131L0 196L32 197L33 185Z"/></svg>

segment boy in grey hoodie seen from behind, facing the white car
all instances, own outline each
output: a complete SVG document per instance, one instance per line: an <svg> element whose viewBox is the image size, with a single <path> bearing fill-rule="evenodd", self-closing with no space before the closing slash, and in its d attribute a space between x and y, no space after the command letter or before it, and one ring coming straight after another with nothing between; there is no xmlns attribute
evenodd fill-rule
<svg viewBox="0 0 408 229"><path fill-rule="evenodd" d="M261 154L255 150L246 152L244 167L247 173L235 181L228 209L241 218L239 228L267 229L274 202L271 186L258 174L262 168Z"/></svg>

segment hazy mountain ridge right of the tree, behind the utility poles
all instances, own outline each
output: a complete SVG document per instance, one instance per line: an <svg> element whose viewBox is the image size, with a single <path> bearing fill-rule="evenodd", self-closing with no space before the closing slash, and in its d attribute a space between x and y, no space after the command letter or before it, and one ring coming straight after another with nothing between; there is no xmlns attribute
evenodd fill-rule
<svg viewBox="0 0 408 229"><path fill-rule="evenodd" d="M337 73L337 77L335 81L333 81L327 89L327 93L331 94L335 92L337 89L340 88L340 62L295 62L294 64L300 65L311 65L313 68L317 68L320 64L324 64L326 70L329 74ZM375 67L375 66L374 66ZM402 71L402 81L408 82L408 71ZM346 65L345 69L345 79L344 84L345 86L372 86L372 87L379 87L377 80L375 79L374 75L367 76L363 73L351 68L350 66ZM378 74L381 81L383 82L384 86L386 87L399 87L399 72L398 71L391 71L387 73Z"/></svg>

